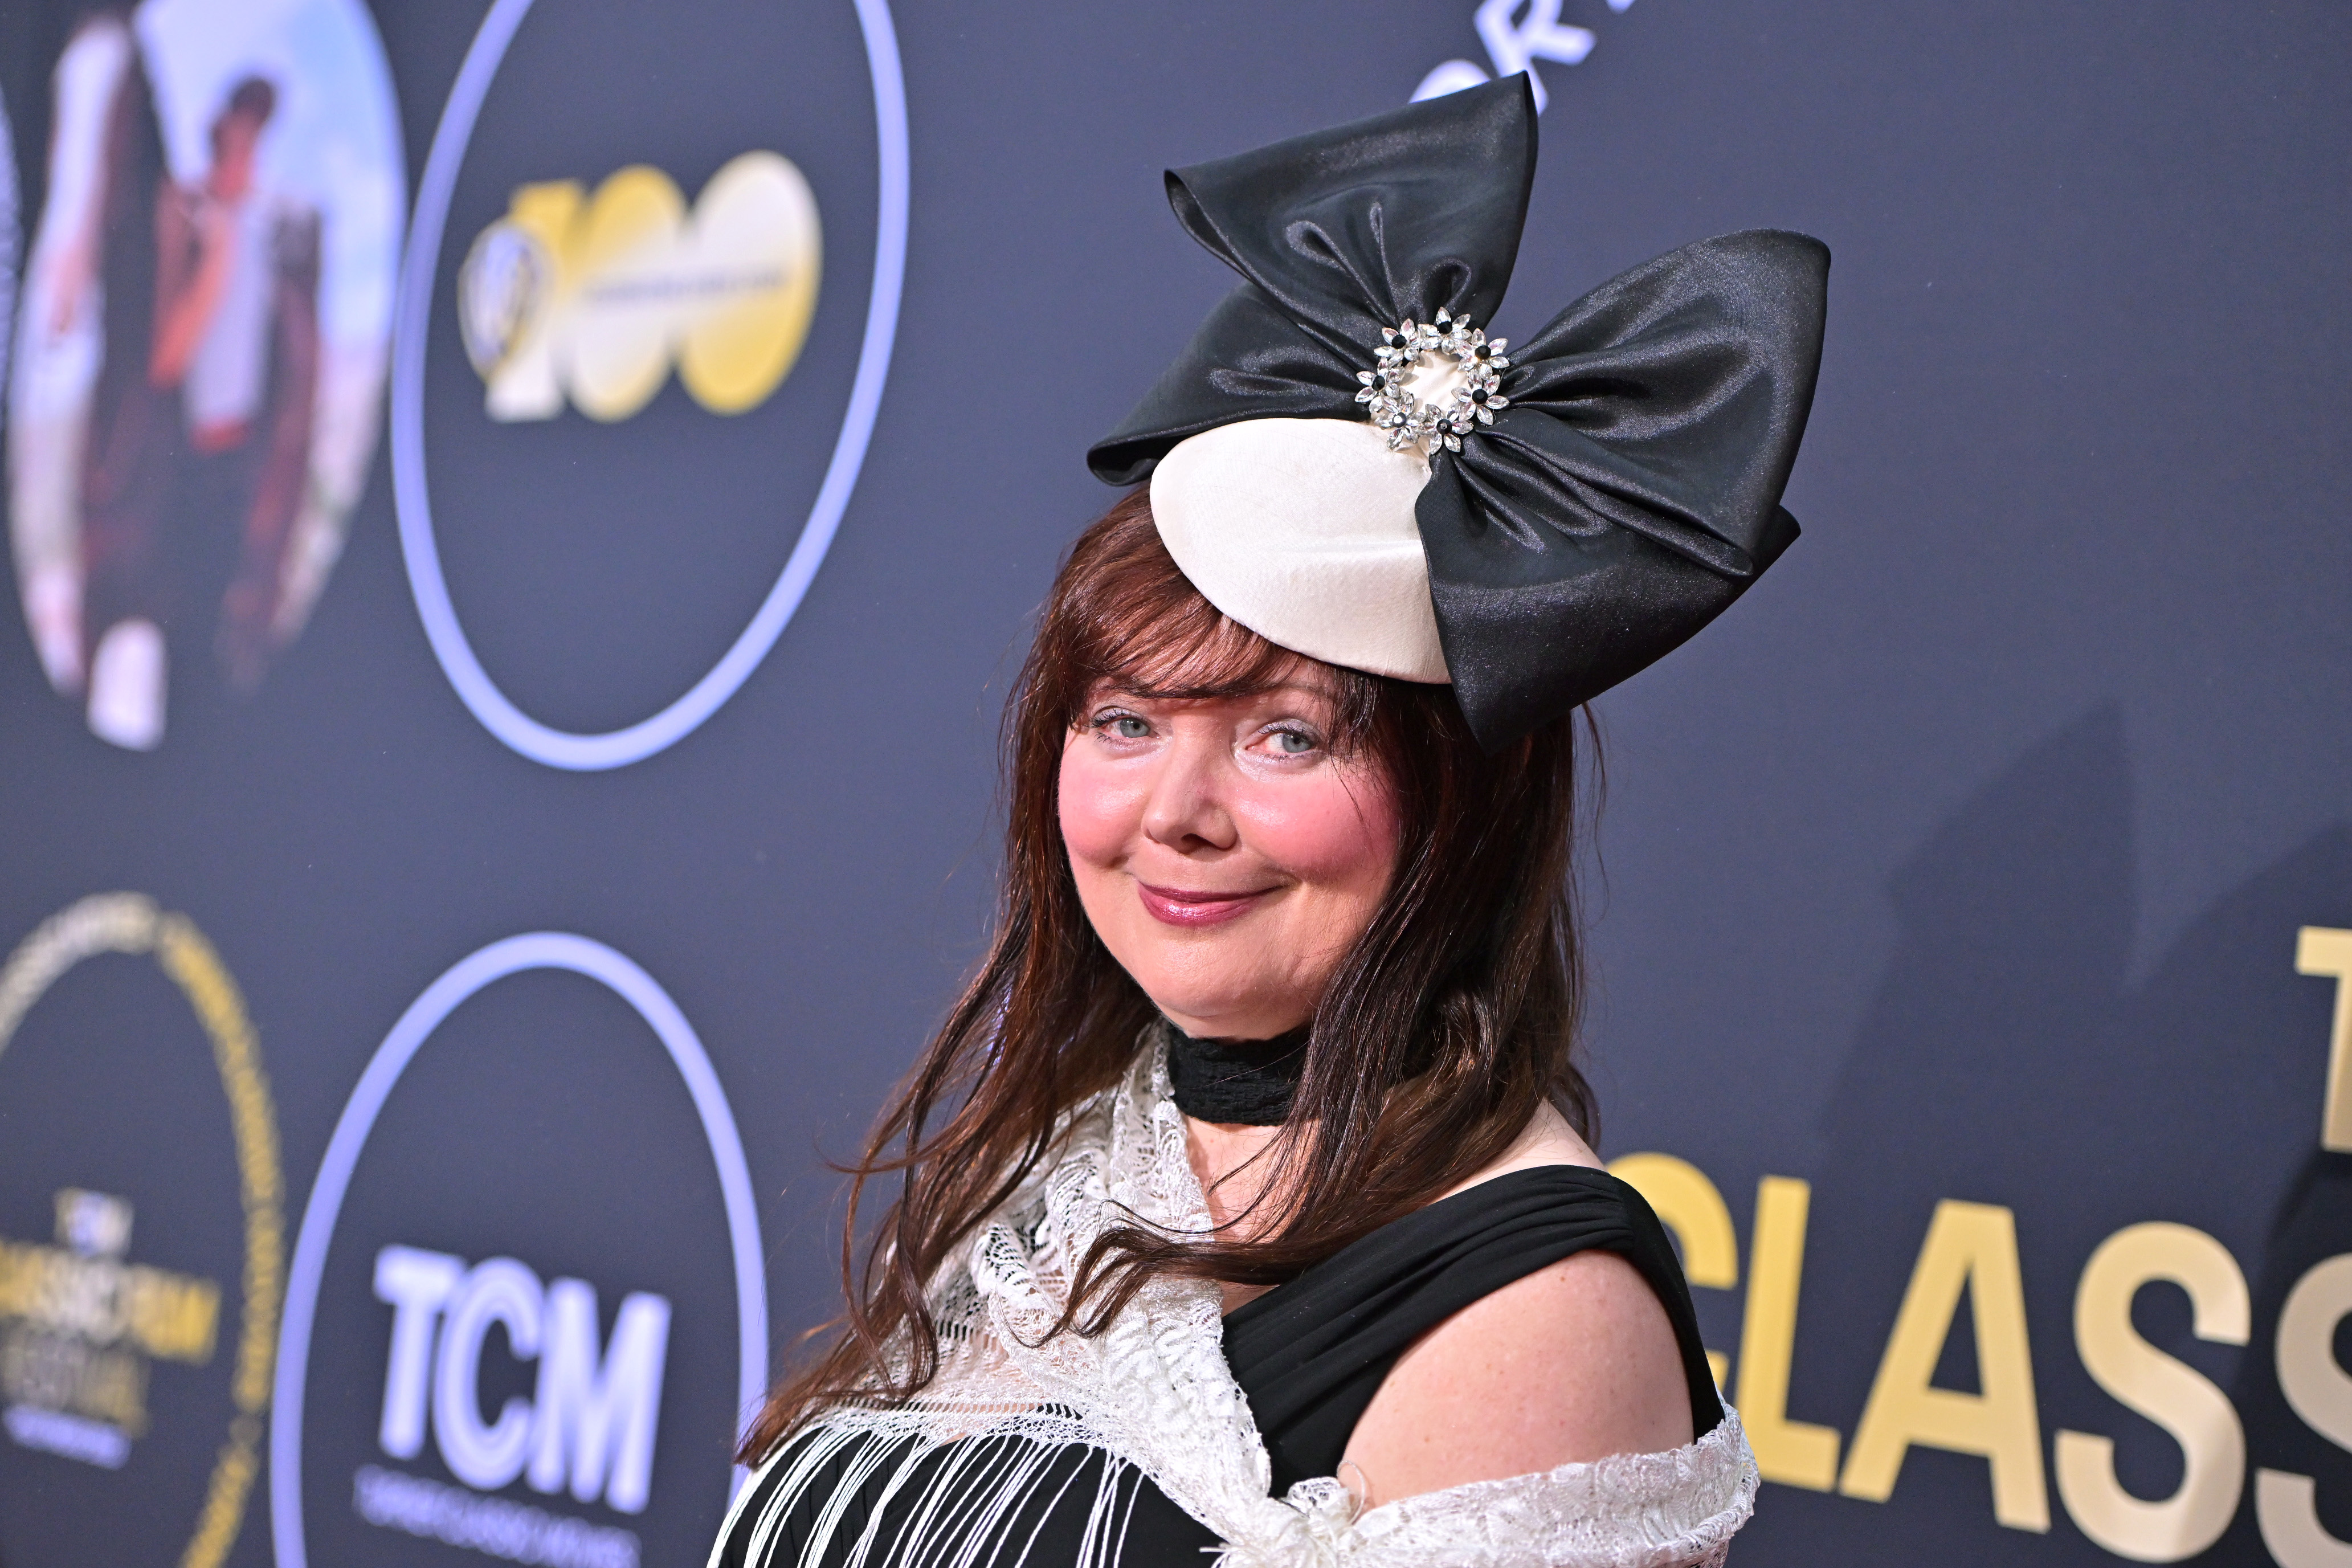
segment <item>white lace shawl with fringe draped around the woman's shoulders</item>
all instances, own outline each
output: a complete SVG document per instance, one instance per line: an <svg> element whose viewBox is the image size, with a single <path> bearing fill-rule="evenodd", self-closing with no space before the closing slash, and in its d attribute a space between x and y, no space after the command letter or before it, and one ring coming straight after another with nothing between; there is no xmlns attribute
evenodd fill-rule
<svg viewBox="0 0 2352 1568"><path fill-rule="evenodd" d="M1127 1081L1077 1105L1056 1161L981 1225L934 1281L941 1373L908 1406L840 1406L786 1443L743 1490L739 1512L767 1495L757 1519L729 1516L724 1544L750 1530L746 1561L818 1561L847 1523L842 1505L877 1476L910 1493L908 1533L877 1542L884 1509L842 1542L849 1568L875 1552L896 1561L983 1563L1056 1453L1101 1448L1105 1465L1084 1563L1117 1561L1112 1519L1120 1472L1157 1483L1225 1542L1221 1568L1715 1568L1755 1507L1757 1469L1738 1413L1696 1443L1595 1465L1477 1481L1355 1509L1336 1479L1301 1481L1270 1497L1272 1465L1258 1425L1225 1366L1214 1284L1155 1279L1096 1338L1051 1335L1070 1267L1103 1229L1141 1222L1167 1234L1209 1227L1185 1161L1183 1117L1169 1098L1164 1051L1138 1051ZM969 1465L938 1450L960 1439ZM781 1523L847 1455L804 1542ZM781 1486L764 1483L783 1467ZM974 1467L981 1467L978 1472ZM1000 1542L1011 1547L1014 1542ZM1021 1552L1014 1552L1018 1559ZM715 1554L713 1554L715 1561Z"/></svg>

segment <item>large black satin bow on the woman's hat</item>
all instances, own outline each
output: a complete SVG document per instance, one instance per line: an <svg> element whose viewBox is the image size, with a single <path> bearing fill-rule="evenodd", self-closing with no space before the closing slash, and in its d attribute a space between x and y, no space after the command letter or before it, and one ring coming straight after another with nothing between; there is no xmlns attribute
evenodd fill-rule
<svg viewBox="0 0 2352 1568"><path fill-rule="evenodd" d="M1134 484L1242 418L1364 418L1383 329L1491 327L1536 169L1524 78L1221 162L1169 202L1247 280L1087 454ZM1439 449L1416 522L1446 670L1501 748L1646 668L1797 538L1780 508L1830 252L1748 230L1613 277L1510 346L1508 407Z"/></svg>

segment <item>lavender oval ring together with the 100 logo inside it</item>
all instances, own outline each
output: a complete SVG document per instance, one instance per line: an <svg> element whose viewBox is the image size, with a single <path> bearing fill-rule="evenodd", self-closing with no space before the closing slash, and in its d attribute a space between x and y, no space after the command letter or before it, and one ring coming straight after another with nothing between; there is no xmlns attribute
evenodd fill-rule
<svg viewBox="0 0 2352 1568"><path fill-rule="evenodd" d="M459 235L463 261L445 266L442 252L452 240L449 219L461 169L489 87L532 5L534 0L492 5L449 89L419 181L393 331L393 498L416 614L459 698L485 729L524 757L557 769L595 771L626 766L675 745L727 703L783 635L840 529L866 461L898 324L908 223L906 87L887 0L854 0L875 106L873 275L847 407L783 569L748 625L682 696L652 717L616 729L562 729L532 717L501 689L475 639L459 623L445 559L449 541L435 534L426 461L428 346L442 353L459 348L447 339L461 341L489 383L489 418L555 418L567 404L597 421L630 418L670 376L673 350L663 346L663 331L649 313L682 306L677 287L663 296L663 289L644 287L642 280L633 284L626 277L628 266L612 259L637 247L642 261L649 244L656 252L689 242L715 247L727 261L715 263L717 270L706 277L743 284L746 299L734 306L715 303L691 320L673 320L668 334L682 339L677 374L701 409L722 418L741 416L769 395L800 350L797 334L807 329L809 292L816 284L814 263L795 270L800 256L795 247L802 240L793 237L793 226L804 226L807 244L814 244L818 219L814 207L800 212L804 183L790 160L757 148L748 155L764 155L783 169L746 167L739 158L701 190L682 190L668 174L647 165L543 169L534 174L539 183L515 188L506 221L470 240ZM633 153L633 158L647 155L647 150ZM746 214L750 214L748 226ZM550 240L557 233L567 237L562 244ZM447 282L452 270L461 273L459 287ZM602 280L602 294L567 282L574 273ZM757 280L769 275L771 284L760 287ZM597 320L564 322L569 331L557 331L557 317L581 299L604 306ZM437 310L454 310L459 329L435 327L442 320ZM546 327L539 327L541 322ZM543 355L546 364L539 364L534 343L557 339L557 348ZM739 348L743 343L748 348ZM628 505L626 496L597 498L597 505L607 503ZM661 527L673 520L647 522Z"/></svg>

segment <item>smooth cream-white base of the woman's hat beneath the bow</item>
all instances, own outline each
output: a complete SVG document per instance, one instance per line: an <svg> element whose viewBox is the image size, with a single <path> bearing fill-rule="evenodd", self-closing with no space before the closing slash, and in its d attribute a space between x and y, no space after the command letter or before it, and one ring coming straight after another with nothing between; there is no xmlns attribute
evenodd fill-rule
<svg viewBox="0 0 2352 1568"><path fill-rule="evenodd" d="M1160 458L1152 520L1176 569L1275 646L1446 684L1414 522L1428 480L1369 421L1244 418Z"/></svg>

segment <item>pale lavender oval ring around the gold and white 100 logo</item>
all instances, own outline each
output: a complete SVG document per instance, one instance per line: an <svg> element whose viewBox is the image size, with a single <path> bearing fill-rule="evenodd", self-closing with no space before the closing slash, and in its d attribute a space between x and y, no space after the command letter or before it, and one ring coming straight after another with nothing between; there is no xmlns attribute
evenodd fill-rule
<svg viewBox="0 0 2352 1568"><path fill-rule="evenodd" d="M849 386L842 433L833 442L833 461L826 465L826 480L816 489L816 503L793 543L793 555L786 557L776 585L760 602L750 625L684 696L626 729L602 733L553 729L515 708L489 679L473 644L466 642L466 630L456 623L456 607L449 602L449 583L442 578L440 548L433 543L433 503L423 454L426 334L433 320L433 277L449 223L449 200L456 193L456 172L473 141L475 118L482 113L489 82L499 73L524 12L532 9L532 0L496 0L489 7L482 28L466 49L456 82L449 87L449 101L433 132L433 150L426 155L423 179L416 181L409 252L400 266L400 310L393 322L393 512L400 520L400 552L409 569L409 595L416 599L416 616L426 625L433 658L440 661L442 675L449 677L459 701L482 722L482 729L532 762L574 771L619 769L691 733L750 679L767 651L776 646L776 637L800 609L800 599L809 592L809 583L833 545L833 534L842 524L849 491L856 489L858 468L866 463L875 414L882 409L882 383L889 378L891 341L898 331L908 193L906 78L898 68L898 33L891 26L889 0L854 0L854 5L858 31L866 35L866 68L873 73L875 87L875 153L882 190L875 216L875 282L866 299L866 341L858 348L858 374Z"/></svg>

